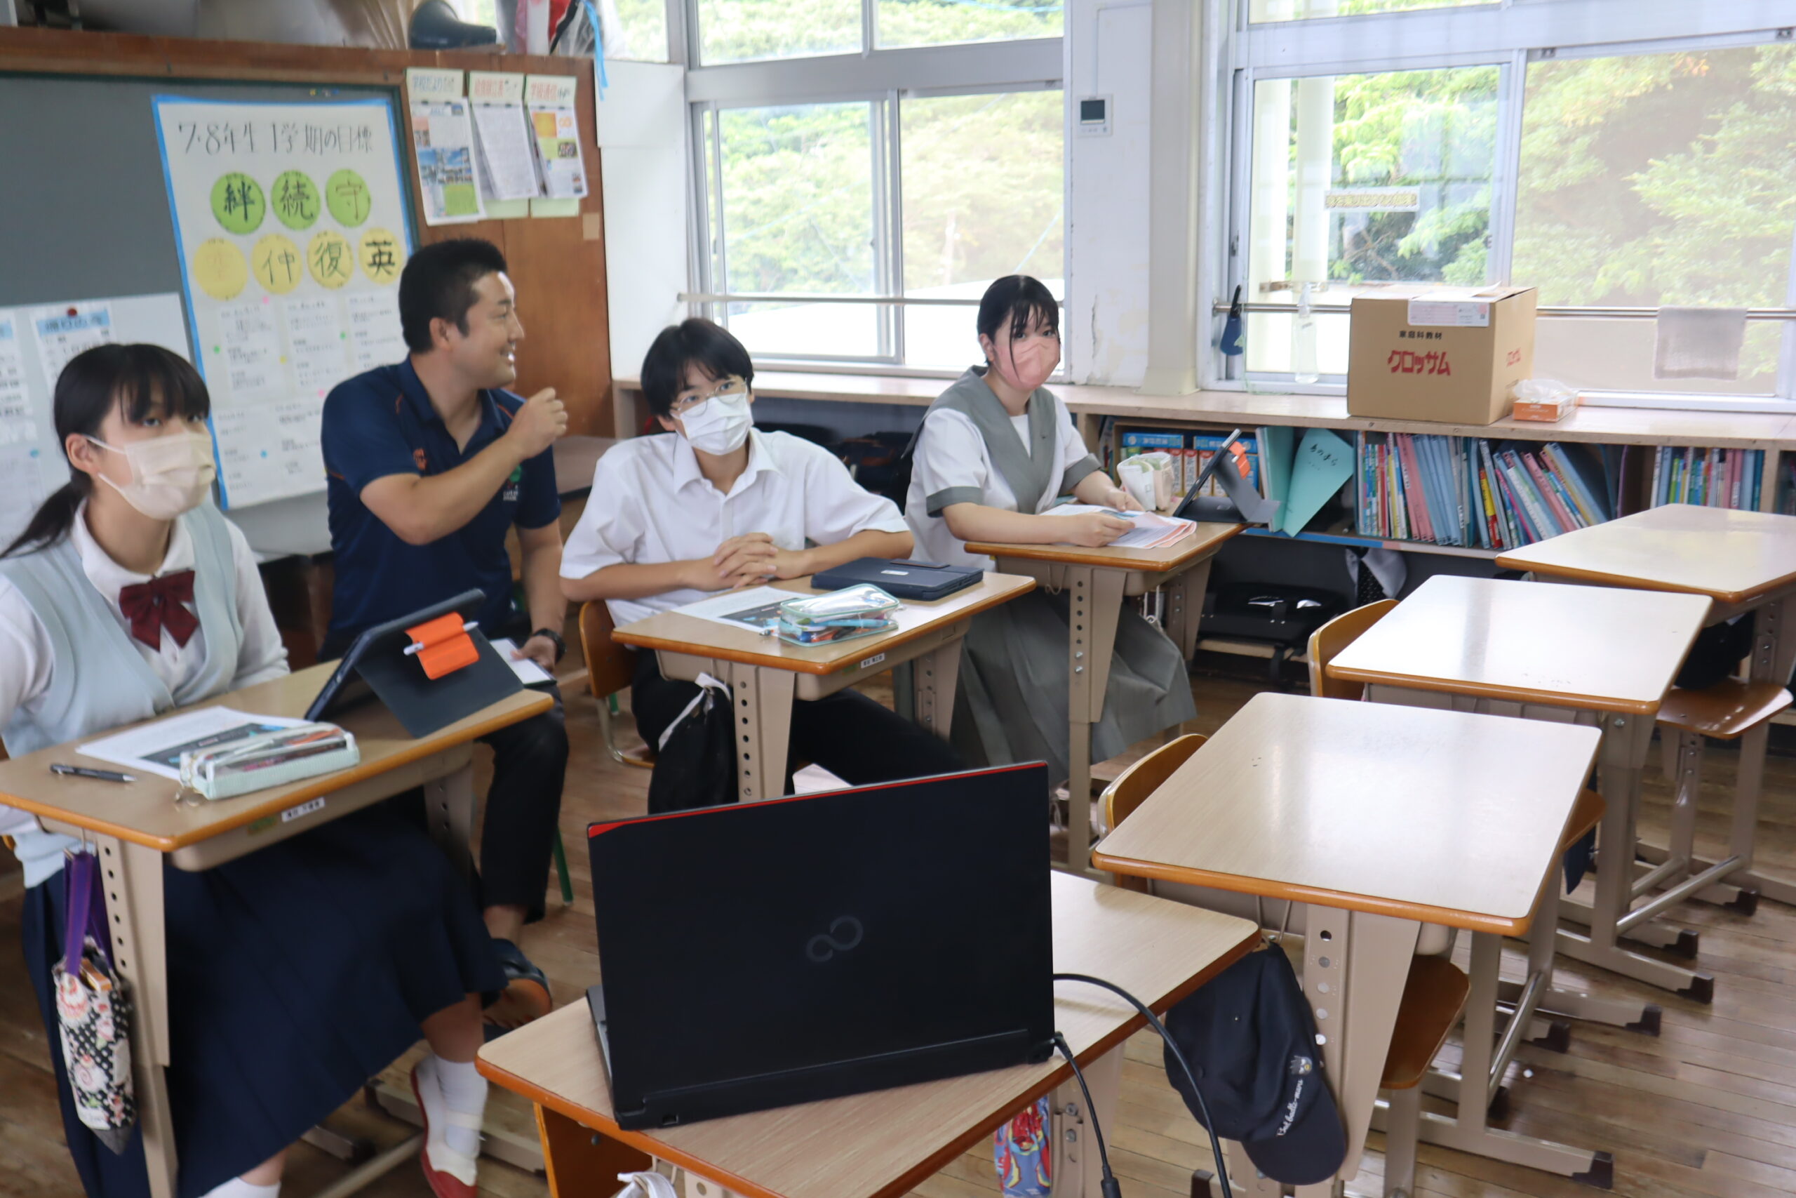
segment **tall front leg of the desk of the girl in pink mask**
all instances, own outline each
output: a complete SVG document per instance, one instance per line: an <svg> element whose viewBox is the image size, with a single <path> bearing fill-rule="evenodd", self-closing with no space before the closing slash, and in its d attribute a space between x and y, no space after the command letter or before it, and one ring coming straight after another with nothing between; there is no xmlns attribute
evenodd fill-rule
<svg viewBox="0 0 1796 1198"><path fill-rule="evenodd" d="M1110 657L1122 614L1122 571L1067 566L1067 869L1092 869L1092 724L1105 715Z"/></svg>

